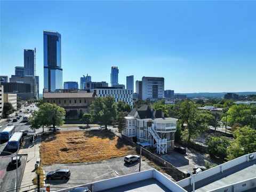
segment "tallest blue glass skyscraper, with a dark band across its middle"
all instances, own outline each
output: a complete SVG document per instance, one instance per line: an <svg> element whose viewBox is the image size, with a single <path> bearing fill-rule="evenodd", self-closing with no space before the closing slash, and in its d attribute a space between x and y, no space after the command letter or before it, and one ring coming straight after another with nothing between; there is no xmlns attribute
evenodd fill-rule
<svg viewBox="0 0 256 192"><path fill-rule="evenodd" d="M61 35L44 30L44 92L62 89Z"/></svg>

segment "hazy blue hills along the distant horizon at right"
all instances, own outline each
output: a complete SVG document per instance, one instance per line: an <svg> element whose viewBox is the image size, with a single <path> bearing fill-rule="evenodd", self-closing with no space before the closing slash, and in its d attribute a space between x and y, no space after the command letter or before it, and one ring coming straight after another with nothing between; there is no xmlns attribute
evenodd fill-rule
<svg viewBox="0 0 256 192"><path fill-rule="evenodd" d="M223 98L227 92L221 93L175 93L187 95L187 98ZM234 92L238 95L256 94L256 92Z"/></svg>

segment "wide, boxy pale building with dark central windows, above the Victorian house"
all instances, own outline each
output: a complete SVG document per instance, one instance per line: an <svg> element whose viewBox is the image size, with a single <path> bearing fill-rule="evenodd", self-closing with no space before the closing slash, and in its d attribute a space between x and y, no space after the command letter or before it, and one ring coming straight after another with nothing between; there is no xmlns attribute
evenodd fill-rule
<svg viewBox="0 0 256 192"><path fill-rule="evenodd" d="M164 98L163 77L142 77L142 100L156 101Z"/></svg>

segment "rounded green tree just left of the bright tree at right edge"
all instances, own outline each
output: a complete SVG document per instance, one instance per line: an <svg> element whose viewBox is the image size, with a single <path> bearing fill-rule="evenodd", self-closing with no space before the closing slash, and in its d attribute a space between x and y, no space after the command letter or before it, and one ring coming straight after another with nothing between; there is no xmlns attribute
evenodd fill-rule
<svg viewBox="0 0 256 192"><path fill-rule="evenodd" d="M206 142L207 151L211 156L224 159L227 157L227 148L230 141L225 137L210 137Z"/></svg>

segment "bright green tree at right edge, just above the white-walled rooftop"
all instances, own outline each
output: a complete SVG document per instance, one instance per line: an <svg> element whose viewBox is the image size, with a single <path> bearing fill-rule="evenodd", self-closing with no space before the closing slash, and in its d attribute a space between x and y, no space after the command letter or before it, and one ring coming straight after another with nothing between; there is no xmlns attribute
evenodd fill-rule
<svg viewBox="0 0 256 192"><path fill-rule="evenodd" d="M234 131L235 139L227 149L227 160L240 157L242 155L254 153L256 149L256 130L250 126L244 126Z"/></svg>

